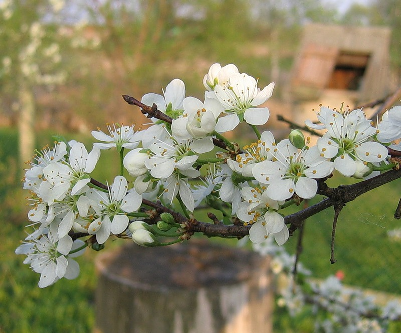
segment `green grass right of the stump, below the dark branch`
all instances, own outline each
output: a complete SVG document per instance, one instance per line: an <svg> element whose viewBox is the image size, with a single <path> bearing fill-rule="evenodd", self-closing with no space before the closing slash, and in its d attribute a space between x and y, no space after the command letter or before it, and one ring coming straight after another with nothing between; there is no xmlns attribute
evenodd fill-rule
<svg viewBox="0 0 401 333"><path fill-rule="evenodd" d="M346 204L336 228L335 264L330 263L333 208L308 219L301 261L319 278L342 270L345 284L401 294L401 242L387 237L389 230L400 227L393 218L400 186L397 180ZM295 232L287 249L293 252L297 240Z"/></svg>

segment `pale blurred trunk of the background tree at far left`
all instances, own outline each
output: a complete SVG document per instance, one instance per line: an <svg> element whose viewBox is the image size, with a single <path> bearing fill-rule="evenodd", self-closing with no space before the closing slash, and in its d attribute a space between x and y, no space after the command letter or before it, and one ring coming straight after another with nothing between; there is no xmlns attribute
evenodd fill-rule
<svg viewBox="0 0 401 333"><path fill-rule="evenodd" d="M35 97L27 84L20 85L18 136L20 163L31 160L35 149Z"/></svg>

